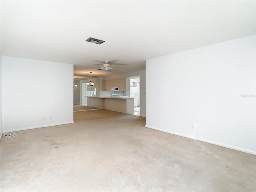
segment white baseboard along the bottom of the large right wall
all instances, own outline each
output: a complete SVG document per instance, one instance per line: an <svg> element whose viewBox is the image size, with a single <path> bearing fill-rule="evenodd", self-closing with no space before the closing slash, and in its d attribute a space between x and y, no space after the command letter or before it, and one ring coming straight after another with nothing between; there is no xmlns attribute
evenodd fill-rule
<svg viewBox="0 0 256 192"><path fill-rule="evenodd" d="M224 144L224 143L219 143L219 142L215 142L215 141L211 141L211 140L207 140L207 139L203 139L203 138L193 137L193 136L189 136L186 134L181 134L181 133L172 132L172 131L168 131L168 130L158 129L156 127L152 127L149 125L145 125L145 127L154 129L154 130L158 130L158 131L162 131L162 132L166 132L166 133L170 133L170 134L174 134L174 135L178 135L178 136L182 136L182 137L186 137L186 138L190 138L190 139L194 139L194 140L198 140L198 141L202 141L202 142L206 142L206 143L210 143L210 144L214 144L214 145L218 145L218 146L222 146L222 147L226 147L226 148L230 148L230 149L234 149L237 151L242 151L242 152L249 153L252 155L256 155L256 151L247 150L244 148L240 148L240 147L236 147L236 146L232 146L232 145L228 145L228 144Z"/></svg>

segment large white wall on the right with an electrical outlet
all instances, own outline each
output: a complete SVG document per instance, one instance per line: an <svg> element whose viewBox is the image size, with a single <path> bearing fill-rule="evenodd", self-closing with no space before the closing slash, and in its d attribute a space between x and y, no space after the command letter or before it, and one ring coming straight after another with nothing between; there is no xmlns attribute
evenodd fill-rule
<svg viewBox="0 0 256 192"><path fill-rule="evenodd" d="M255 39L146 60L146 127L256 154Z"/></svg>

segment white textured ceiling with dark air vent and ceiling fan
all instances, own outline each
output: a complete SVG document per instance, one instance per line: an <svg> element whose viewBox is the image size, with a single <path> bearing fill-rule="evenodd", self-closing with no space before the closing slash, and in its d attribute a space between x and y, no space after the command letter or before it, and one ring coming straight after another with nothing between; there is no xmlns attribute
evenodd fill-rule
<svg viewBox="0 0 256 192"><path fill-rule="evenodd" d="M123 64L107 75L141 70L146 59L255 34L255 2L2 0L1 54L71 63L79 75L104 60Z"/></svg>

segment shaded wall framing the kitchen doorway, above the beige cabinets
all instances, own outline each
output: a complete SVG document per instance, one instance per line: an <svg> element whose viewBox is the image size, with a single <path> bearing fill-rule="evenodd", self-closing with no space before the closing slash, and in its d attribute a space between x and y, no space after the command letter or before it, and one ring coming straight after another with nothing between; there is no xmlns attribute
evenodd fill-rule
<svg viewBox="0 0 256 192"><path fill-rule="evenodd" d="M146 117L146 70L138 70L117 75L110 75L103 77L103 80L131 77L137 75L140 76L140 116Z"/></svg>

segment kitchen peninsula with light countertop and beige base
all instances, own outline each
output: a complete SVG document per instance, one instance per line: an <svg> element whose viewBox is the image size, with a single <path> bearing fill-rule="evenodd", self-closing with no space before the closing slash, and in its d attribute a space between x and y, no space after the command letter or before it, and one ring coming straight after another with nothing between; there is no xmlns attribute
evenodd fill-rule
<svg viewBox="0 0 256 192"><path fill-rule="evenodd" d="M131 97L108 97L108 96L87 96L88 106L103 108L121 113L133 113L134 98ZM95 106L98 104L99 106Z"/></svg>

